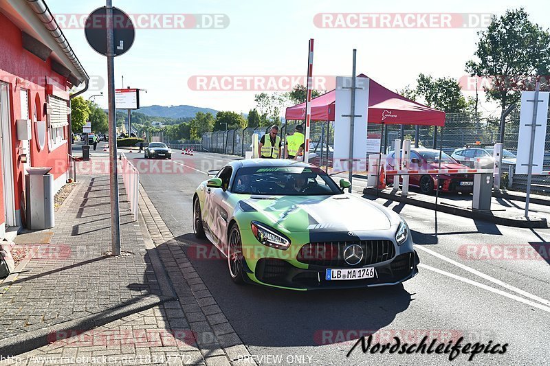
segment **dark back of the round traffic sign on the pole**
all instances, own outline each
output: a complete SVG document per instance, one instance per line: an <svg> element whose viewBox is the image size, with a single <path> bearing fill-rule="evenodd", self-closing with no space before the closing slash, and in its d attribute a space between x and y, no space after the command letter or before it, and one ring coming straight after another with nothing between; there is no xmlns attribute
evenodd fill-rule
<svg viewBox="0 0 550 366"><path fill-rule="evenodd" d="M86 19L86 39L96 52L107 56L107 8L97 8ZM126 53L135 38L133 23L125 12L113 7L114 56Z"/></svg>

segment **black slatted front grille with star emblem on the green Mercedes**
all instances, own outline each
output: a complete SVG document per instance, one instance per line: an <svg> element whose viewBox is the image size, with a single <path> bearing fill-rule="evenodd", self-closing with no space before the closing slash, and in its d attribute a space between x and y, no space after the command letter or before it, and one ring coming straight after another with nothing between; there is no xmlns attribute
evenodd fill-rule
<svg viewBox="0 0 550 366"><path fill-rule="evenodd" d="M362 258L357 264L346 262L344 251L351 245L358 245ZM357 251L356 251L357 253ZM360 254L360 253L359 253ZM299 262L310 266L323 267L360 267L391 260L395 256L395 247L390 240L361 240L342 242L314 242L305 244L297 255Z"/></svg>

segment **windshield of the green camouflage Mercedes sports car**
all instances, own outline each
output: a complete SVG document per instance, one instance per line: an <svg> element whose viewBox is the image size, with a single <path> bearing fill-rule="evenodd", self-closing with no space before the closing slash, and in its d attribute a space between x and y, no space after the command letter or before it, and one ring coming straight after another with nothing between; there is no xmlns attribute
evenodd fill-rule
<svg viewBox="0 0 550 366"><path fill-rule="evenodd" d="M328 174L314 167L245 167L236 172L232 192L271 196L342 194Z"/></svg>

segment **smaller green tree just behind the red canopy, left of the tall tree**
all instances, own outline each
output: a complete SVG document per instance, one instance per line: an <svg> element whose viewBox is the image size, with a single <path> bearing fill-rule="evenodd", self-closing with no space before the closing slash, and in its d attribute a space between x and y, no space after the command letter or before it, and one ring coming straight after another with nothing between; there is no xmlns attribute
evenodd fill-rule
<svg viewBox="0 0 550 366"><path fill-rule="evenodd" d="M459 82L452 78L434 79L421 73L415 94L422 96L428 106L447 113L465 112L467 109Z"/></svg>

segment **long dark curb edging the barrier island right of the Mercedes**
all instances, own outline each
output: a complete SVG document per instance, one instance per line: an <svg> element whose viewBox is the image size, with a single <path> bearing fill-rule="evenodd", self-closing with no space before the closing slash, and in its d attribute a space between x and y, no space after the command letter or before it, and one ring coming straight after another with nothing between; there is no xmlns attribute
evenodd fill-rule
<svg viewBox="0 0 550 366"><path fill-rule="evenodd" d="M388 194L386 192L377 192L374 188L365 188L363 194L369 194L370 196L378 196L380 198L386 198L388 200L407 203L417 207L425 209L432 209L445 212L445 214L452 214L455 216L463 216L467 218L477 218L489 222L494 222L497 225L504 225L509 227L522 227L527 229L547 229L548 224L546 218L505 218L494 216L493 214L487 214L482 211L474 211L472 209L464 209L460 207L448 206L448 205L435 205L435 203L419 201L413 198L400 196L397 194Z"/></svg>

